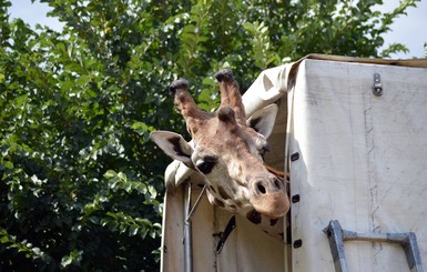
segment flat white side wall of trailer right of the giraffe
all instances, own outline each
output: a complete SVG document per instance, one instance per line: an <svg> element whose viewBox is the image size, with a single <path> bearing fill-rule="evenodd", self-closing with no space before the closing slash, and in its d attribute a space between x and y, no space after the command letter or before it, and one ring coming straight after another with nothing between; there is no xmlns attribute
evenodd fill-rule
<svg viewBox="0 0 427 272"><path fill-rule="evenodd" d="M384 94L373 95L374 73ZM415 232L427 263L427 69L305 60L294 89L293 271L334 271L323 229ZM345 242L349 271L409 271L400 246Z"/></svg>

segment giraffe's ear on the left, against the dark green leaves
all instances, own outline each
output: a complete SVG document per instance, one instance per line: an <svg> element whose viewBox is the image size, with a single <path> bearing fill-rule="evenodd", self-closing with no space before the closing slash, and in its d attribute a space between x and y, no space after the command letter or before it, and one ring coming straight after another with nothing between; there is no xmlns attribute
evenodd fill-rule
<svg viewBox="0 0 427 272"><path fill-rule="evenodd" d="M184 138L171 131L154 131L151 132L150 138L174 160L183 162L187 168L194 169L191 161L193 148L184 140Z"/></svg>

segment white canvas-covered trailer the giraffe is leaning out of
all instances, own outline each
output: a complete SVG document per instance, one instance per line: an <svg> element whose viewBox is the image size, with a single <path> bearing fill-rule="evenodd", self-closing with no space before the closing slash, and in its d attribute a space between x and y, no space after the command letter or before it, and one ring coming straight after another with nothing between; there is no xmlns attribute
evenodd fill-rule
<svg viewBox="0 0 427 272"><path fill-rule="evenodd" d="M234 228L174 161L162 271L423 271L427 60L312 54L262 72L243 101L247 115L279 109L266 162L291 173L285 241L238 215Z"/></svg>

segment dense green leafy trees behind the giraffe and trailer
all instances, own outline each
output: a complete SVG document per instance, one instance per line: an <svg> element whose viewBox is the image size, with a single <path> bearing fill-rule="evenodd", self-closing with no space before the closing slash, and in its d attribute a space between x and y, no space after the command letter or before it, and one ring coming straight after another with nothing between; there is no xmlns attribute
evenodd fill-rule
<svg viewBox="0 0 427 272"><path fill-rule="evenodd" d="M232 68L246 89L307 53L386 57L390 13L360 1L42 0L62 32L10 21L0 2L0 268L157 270L163 171L149 141L184 131L166 87Z"/></svg>

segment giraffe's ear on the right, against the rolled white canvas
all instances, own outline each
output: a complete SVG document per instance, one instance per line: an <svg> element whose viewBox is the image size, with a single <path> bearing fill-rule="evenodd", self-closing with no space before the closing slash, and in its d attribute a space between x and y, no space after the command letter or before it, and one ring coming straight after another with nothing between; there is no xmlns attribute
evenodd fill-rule
<svg viewBox="0 0 427 272"><path fill-rule="evenodd" d="M267 139L272 134L276 115L277 105L270 104L252 114L252 117L247 119L246 123L248 127L253 128L256 132L263 134Z"/></svg>

